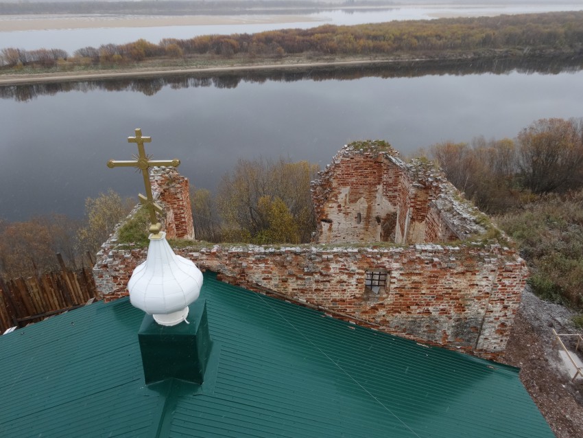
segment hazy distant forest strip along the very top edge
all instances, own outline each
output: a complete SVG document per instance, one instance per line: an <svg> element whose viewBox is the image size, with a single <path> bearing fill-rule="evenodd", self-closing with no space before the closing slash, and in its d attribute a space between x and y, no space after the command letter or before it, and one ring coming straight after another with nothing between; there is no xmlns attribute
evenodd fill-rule
<svg viewBox="0 0 583 438"><path fill-rule="evenodd" d="M318 0L191 0L191 1L52 1L43 3L0 3L0 15L21 14L298 14L322 9L340 9L353 0L330 3ZM392 5L391 1L359 0L364 5Z"/></svg>

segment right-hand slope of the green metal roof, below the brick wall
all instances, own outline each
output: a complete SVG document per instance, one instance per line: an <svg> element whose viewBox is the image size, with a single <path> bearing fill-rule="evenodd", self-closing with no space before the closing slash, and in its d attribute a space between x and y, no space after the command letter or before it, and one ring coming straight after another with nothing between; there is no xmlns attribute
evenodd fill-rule
<svg viewBox="0 0 583 438"><path fill-rule="evenodd" d="M518 389L519 400L527 397L521 416L533 413L532 401L515 369L420 347L226 284L213 285L213 292L220 296L213 296L208 304L209 325L213 338L221 344L217 382L224 384L217 383L214 399L223 404L244 404L257 423L262 418L257 411L263 404L270 422L287 424L302 418L307 429L296 428L292 436L325 436L310 429L310 419L326 425L330 436L349 436L350 425L355 425L354 436L388 436L388 428L397 424L402 430L393 430L392 436L418 433L451 437L455 430L455 436L486 437L496 433L493 421L505 425L502 433L507 436L536 436L540 426L544 433L550 433L536 409L538 422L534 427L527 414L523 422L519 419L516 430L508 433L509 420L516 423L517 419L505 418L508 408L501 406L507 381L516 383L512 395ZM235 319L233 309L237 309ZM492 386L492 380L498 384ZM289 391L290 386L294 391ZM191 409L204 412L208 404L196 404L198 400L202 399L193 397L190 403L195 407ZM181 403L186 404L187 397ZM366 408L359 411L358 406ZM520 406L514 408L520 411ZM477 409L484 412L476 415ZM213 408L207 415L215 411ZM180 415L180 404L176 415ZM223 412L213 421L225 428L219 420L224 422L227 417ZM232 421L241 422L241 418ZM371 430L365 433L363 424ZM482 433L477 428L482 428ZM180 430L188 429L187 417L181 418ZM283 432L261 433L273 436Z"/></svg>

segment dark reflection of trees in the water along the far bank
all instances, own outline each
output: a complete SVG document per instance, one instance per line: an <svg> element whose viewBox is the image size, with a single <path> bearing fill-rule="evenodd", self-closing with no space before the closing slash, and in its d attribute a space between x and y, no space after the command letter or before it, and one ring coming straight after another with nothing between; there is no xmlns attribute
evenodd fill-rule
<svg viewBox="0 0 583 438"><path fill-rule="evenodd" d="M263 83L295 82L298 80L357 80L361 78L415 78L426 75L468 75L479 73L507 74L519 73L558 74L566 71L580 71L580 59L557 58L502 58L484 60L410 60L403 62L379 62L378 65L294 67L289 70L233 71L209 75L209 73L189 73L180 76L158 76L156 78L128 78L108 80L88 80L83 82L47 82L44 84L10 85L0 87L0 99L19 102L34 100L42 95L56 95L69 91L135 91L154 95L164 87L188 89L216 87L234 89L241 82Z"/></svg>

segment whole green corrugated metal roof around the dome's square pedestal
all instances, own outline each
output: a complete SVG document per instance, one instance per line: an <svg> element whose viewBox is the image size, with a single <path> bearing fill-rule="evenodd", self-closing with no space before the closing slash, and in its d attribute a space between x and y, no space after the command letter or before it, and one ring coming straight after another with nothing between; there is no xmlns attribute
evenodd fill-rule
<svg viewBox="0 0 583 438"><path fill-rule="evenodd" d="M0 336L1 437L553 437L518 370L204 277L202 386L147 387L128 299Z"/></svg>

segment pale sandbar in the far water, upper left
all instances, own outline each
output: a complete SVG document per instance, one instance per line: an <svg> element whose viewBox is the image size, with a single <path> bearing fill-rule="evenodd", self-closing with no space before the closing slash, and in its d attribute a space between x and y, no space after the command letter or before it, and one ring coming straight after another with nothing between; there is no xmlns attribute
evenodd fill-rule
<svg viewBox="0 0 583 438"><path fill-rule="evenodd" d="M1 16L2 32L23 30L95 29L103 27L165 27L320 21L307 15L21 15Z"/></svg>

